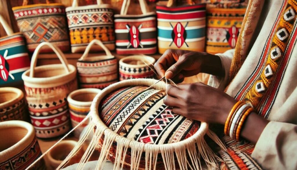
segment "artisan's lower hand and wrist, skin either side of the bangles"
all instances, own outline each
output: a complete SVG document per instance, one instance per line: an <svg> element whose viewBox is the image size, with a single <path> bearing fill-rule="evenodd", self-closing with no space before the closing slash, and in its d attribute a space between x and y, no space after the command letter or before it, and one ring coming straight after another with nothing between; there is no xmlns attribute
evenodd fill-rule
<svg viewBox="0 0 297 170"><path fill-rule="evenodd" d="M206 123L225 124L228 114L237 102L228 94L203 83L169 85L165 105L173 112L189 119ZM251 113L241 129L241 137L256 144L268 120Z"/></svg>

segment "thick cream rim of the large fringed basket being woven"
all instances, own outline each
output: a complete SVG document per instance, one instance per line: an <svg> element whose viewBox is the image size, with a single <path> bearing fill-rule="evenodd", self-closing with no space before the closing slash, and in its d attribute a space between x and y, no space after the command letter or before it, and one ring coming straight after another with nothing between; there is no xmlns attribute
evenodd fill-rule
<svg viewBox="0 0 297 170"><path fill-rule="evenodd" d="M94 124L97 127L100 127L100 129L102 129L104 131L103 132L104 135L115 135L116 136L116 138L115 138L116 142L129 143L130 147L132 147L134 144L136 144L136 145L139 144L139 143L144 144L142 142L138 142L138 141L135 141L135 140L132 140L132 139L125 138L125 137L117 134L116 132L112 131L109 127L107 127L99 117L98 105L106 95L108 95L109 93L111 93L112 91L114 91L114 90L116 90L118 88L129 86L129 85L146 85L146 86L150 86L150 85L153 85L154 83L157 83L155 85L155 87L157 86L156 89L160 89L160 90L165 90L166 89L166 84L164 82L158 82L158 80L155 80L155 79L129 79L129 80L124 80L124 81L114 83L114 84L108 86L107 88L103 89L102 93L97 94L97 96L94 98L94 100L92 102L92 105L91 105L91 108L90 108L92 121L94 122ZM184 139L182 141L178 141L176 143L171 143L171 144L144 144L144 145L148 146L148 147L152 147L154 150L156 150L158 152L162 148L178 149L180 147L180 145L186 145L187 146L187 144L189 144L189 143L195 143L200 138L203 138L203 136L206 134L207 131L208 131L208 124L206 122L201 122L198 131L195 132L194 135L190 136L187 139ZM144 149L144 151L145 151L145 149Z"/></svg>

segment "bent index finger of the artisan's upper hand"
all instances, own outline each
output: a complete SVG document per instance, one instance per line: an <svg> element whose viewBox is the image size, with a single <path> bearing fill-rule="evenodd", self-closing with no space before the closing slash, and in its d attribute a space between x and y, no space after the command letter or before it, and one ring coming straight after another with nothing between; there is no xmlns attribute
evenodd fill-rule
<svg viewBox="0 0 297 170"><path fill-rule="evenodd" d="M164 54L157 60L157 62L154 64L155 70L160 76L165 76L166 70L169 68L170 65L175 63L175 60L172 56L172 53L170 50L166 50ZM169 65L169 66L168 66Z"/></svg>

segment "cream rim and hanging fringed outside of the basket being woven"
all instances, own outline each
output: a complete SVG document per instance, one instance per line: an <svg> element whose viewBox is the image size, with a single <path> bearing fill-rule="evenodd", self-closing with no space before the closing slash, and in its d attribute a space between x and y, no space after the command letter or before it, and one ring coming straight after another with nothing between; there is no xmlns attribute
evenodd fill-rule
<svg viewBox="0 0 297 170"><path fill-rule="evenodd" d="M127 88L135 87L145 88L144 91L154 91L156 94L166 94L166 84L154 79L125 80L110 85L102 90L102 93L98 94L94 98L91 105L90 113L92 121L90 122L88 129L82 134L82 137L78 141L78 145L72 150L72 152L70 152L68 157L57 169L61 169L65 166L65 164L67 164L71 157L78 152L86 140L86 137L93 130L94 136L82 159L80 160L77 169L84 168L85 163L89 160L95 149L100 150L100 156L95 169L102 169L104 167L105 160L107 158L110 159L110 157L113 156L114 159L110 160L114 162L114 169L122 169L123 167L125 169L129 168L135 170L202 169L202 160L200 159L204 160L208 169L214 169L218 167L217 156L215 156L214 152L207 145L206 141L204 140L204 135L207 134L211 139L219 144L219 146L223 146L223 144L213 132L208 130L208 124L205 122L201 122L199 124L200 127L198 130L193 132L188 138L168 144L145 144L143 142L135 141L131 138L123 137L122 135L114 132L110 126L108 127L99 116L99 113L103 112L100 107L105 105L104 101L108 101L107 103L112 103L111 100L115 99L108 95L111 93L118 95L121 93L121 90L125 91ZM105 98L106 96L108 97ZM154 99L157 100L157 97ZM103 104L101 103L102 101ZM162 103L163 99L159 100L159 102ZM119 102L115 104L117 105ZM164 108L164 110L166 110L166 108ZM136 111L140 110L141 109ZM161 111L161 113L163 112ZM184 118L180 115L177 116Z"/></svg>

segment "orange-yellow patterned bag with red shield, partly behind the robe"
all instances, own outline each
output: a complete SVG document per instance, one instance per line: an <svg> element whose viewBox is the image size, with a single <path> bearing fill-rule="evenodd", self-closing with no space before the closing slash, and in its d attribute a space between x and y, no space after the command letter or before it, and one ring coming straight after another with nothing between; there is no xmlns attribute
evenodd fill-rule
<svg viewBox="0 0 297 170"><path fill-rule="evenodd" d="M223 53L235 48L246 8L207 10L206 52Z"/></svg>

